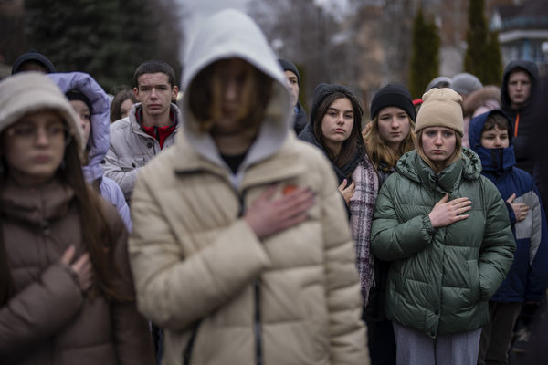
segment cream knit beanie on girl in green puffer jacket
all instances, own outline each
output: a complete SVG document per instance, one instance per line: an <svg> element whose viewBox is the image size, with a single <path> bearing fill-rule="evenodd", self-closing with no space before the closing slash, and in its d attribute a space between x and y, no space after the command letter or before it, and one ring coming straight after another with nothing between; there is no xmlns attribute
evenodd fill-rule
<svg viewBox="0 0 548 365"><path fill-rule="evenodd" d="M449 88L430 89L422 97L423 103L416 114L415 131L427 127L447 127L462 137L462 98L457 91Z"/></svg>

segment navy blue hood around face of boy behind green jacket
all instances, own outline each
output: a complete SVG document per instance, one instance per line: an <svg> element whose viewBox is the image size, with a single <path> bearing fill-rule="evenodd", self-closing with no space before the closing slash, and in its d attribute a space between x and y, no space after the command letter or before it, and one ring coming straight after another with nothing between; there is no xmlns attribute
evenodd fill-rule
<svg viewBox="0 0 548 365"><path fill-rule="evenodd" d="M511 126L511 121L502 110L490 110L470 120L469 142L472 151L478 154L483 170L501 174L511 170L516 164L516 157L511 130L508 130L509 146L507 148L488 149L481 145L481 130L487 118L493 113L503 115L508 120L508 125Z"/></svg>

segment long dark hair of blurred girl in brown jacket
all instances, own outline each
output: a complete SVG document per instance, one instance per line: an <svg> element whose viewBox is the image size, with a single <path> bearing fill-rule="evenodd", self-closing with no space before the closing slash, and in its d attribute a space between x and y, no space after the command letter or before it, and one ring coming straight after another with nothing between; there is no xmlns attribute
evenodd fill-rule
<svg viewBox="0 0 548 365"><path fill-rule="evenodd" d="M0 134L3 140L3 133ZM0 158L4 167L4 176L0 175L0 190L3 189L5 177L9 168L4 158ZM114 277L120 276L113 261L113 244L117 237L109 227L100 196L86 183L81 170L79 146L74 139L65 148L63 167L56 172L57 178L74 191L81 226L81 236L94 271L93 291L99 291L108 299L119 301L132 300L118 292L114 285ZM2 224L0 224L0 228ZM14 295L15 287L10 272L9 260L5 251L4 235L0 235L0 305L4 305Z"/></svg>

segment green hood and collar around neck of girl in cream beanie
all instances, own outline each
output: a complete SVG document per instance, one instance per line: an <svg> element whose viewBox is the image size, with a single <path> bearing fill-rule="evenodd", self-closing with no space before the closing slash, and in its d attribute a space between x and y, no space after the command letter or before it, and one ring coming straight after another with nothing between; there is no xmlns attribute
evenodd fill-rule
<svg viewBox="0 0 548 365"><path fill-rule="evenodd" d="M481 161L478 155L466 147L462 147L460 159L453 162L437 175L427 162L416 153L416 150L406 152L396 163L395 170L409 180L422 183L439 193L451 193L465 180L476 180L481 173Z"/></svg>

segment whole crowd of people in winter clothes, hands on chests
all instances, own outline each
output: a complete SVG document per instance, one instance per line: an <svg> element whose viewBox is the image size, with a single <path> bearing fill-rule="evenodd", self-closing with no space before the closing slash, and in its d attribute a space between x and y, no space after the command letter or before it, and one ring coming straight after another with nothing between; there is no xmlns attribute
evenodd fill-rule
<svg viewBox="0 0 548 365"><path fill-rule="evenodd" d="M257 24L112 99L37 51L0 81L0 362L537 363L548 202L532 61L389 83L369 120ZM544 332L543 332L544 330Z"/></svg>

